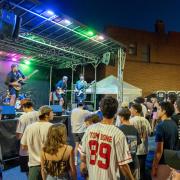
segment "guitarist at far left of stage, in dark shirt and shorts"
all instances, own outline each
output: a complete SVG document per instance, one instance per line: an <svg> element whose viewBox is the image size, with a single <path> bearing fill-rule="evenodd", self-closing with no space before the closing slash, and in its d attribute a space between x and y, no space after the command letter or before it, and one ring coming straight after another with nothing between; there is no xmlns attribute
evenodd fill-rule
<svg viewBox="0 0 180 180"><path fill-rule="evenodd" d="M17 64L11 65L11 71L8 73L5 84L9 87L10 93L10 105L14 106L16 103L16 98L19 95L19 91L16 87L18 87L23 80L26 80L27 77L18 69Z"/></svg>

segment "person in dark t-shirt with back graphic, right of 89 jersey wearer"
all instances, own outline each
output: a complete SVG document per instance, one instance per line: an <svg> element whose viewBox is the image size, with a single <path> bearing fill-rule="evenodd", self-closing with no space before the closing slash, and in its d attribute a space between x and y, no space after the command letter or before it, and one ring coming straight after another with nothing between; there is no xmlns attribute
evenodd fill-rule
<svg viewBox="0 0 180 180"><path fill-rule="evenodd" d="M140 179L140 169L139 169L139 161L137 158L137 146L141 144L141 139L137 129L130 124L129 118L131 116L131 112L128 108L121 108L118 113L121 121L120 130L125 134L127 138L127 142L129 145L129 150L131 152L131 157L133 162L129 163L129 167L134 176L134 179ZM124 179L123 177L121 178Z"/></svg>

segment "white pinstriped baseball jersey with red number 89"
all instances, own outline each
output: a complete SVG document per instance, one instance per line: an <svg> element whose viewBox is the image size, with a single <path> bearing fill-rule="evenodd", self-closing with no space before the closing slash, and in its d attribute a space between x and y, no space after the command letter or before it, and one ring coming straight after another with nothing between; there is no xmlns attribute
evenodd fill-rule
<svg viewBox="0 0 180 180"><path fill-rule="evenodd" d="M82 139L89 180L115 180L119 165L132 161L126 137L114 125L97 123L88 127Z"/></svg>

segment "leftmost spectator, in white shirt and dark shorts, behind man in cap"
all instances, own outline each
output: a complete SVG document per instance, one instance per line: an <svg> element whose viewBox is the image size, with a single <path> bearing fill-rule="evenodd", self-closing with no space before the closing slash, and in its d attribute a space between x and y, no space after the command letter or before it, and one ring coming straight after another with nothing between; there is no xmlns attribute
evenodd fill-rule
<svg viewBox="0 0 180 180"><path fill-rule="evenodd" d="M24 100L21 104L22 110L25 112L20 116L17 128L16 128L16 137L18 140L21 140L23 133L28 125L37 122L39 120L39 112L35 111L33 108L33 103L27 99ZM20 146L19 150L19 163L21 172L26 172L28 174L28 152L23 150Z"/></svg>

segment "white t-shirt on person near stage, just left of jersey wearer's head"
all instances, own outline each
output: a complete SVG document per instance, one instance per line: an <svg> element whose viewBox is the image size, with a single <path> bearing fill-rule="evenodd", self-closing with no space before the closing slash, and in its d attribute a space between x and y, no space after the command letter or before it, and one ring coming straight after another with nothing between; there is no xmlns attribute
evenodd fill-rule
<svg viewBox="0 0 180 180"><path fill-rule="evenodd" d="M75 108L71 112L71 127L72 133L84 133L86 131L86 126L84 123L85 117L91 114L91 112Z"/></svg>

